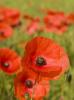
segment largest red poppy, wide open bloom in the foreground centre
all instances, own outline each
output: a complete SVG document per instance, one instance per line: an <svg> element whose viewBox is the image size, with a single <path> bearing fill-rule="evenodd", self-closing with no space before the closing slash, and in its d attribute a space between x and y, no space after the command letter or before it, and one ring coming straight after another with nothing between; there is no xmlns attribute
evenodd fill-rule
<svg viewBox="0 0 74 100"><path fill-rule="evenodd" d="M26 55L22 60L23 68L27 66L41 77L57 79L69 65L64 49L51 39L36 37L26 45Z"/></svg>

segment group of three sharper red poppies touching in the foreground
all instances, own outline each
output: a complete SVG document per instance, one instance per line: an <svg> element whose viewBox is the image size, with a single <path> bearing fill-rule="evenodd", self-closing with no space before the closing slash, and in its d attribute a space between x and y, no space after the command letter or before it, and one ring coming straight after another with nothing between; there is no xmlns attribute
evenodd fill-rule
<svg viewBox="0 0 74 100"><path fill-rule="evenodd" d="M43 100L49 94L50 80L58 79L68 70L69 58L55 41L35 37L28 41L23 58L9 48L0 48L0 69L16 74L14 94L19 100Z"/></svg>

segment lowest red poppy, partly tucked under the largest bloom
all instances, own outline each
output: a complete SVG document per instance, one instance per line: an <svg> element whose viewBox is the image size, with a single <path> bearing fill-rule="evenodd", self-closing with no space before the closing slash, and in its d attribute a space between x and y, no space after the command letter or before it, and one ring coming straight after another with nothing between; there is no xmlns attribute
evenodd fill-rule
<svg viewBox="0 0 74 100"><path fill-rule="evenodd" d="M31 73L30 73L31 74ZM49 82L36 82L35 79L28 76L27 73L20 73L14 81L15 96L19 100L26 100L25 94L28 93L33 100L43 100L43 97L49 93Z"/></svg>

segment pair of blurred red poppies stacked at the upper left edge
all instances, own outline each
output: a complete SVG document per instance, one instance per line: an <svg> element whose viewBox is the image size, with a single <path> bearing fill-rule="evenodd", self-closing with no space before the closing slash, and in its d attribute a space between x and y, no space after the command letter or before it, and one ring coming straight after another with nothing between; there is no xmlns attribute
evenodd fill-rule
<svg viewBox="0 0 74 100"><path fill-rule="evenodd" d="M20 13L16 9L0 8L0 41L12 36L12 27L20 23Z"/></svg>

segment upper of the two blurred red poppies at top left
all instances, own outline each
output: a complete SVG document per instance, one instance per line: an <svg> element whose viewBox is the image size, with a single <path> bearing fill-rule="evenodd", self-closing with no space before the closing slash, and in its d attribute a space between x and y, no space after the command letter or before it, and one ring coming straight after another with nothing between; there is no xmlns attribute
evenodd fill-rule
<svg viewBox="0 0 74 100"><path fill-rule="evenodd" d="M11 26L16 26L20 22L20 13L17 9L3 8L2 16L4 16L4 22Z"/></svg>

